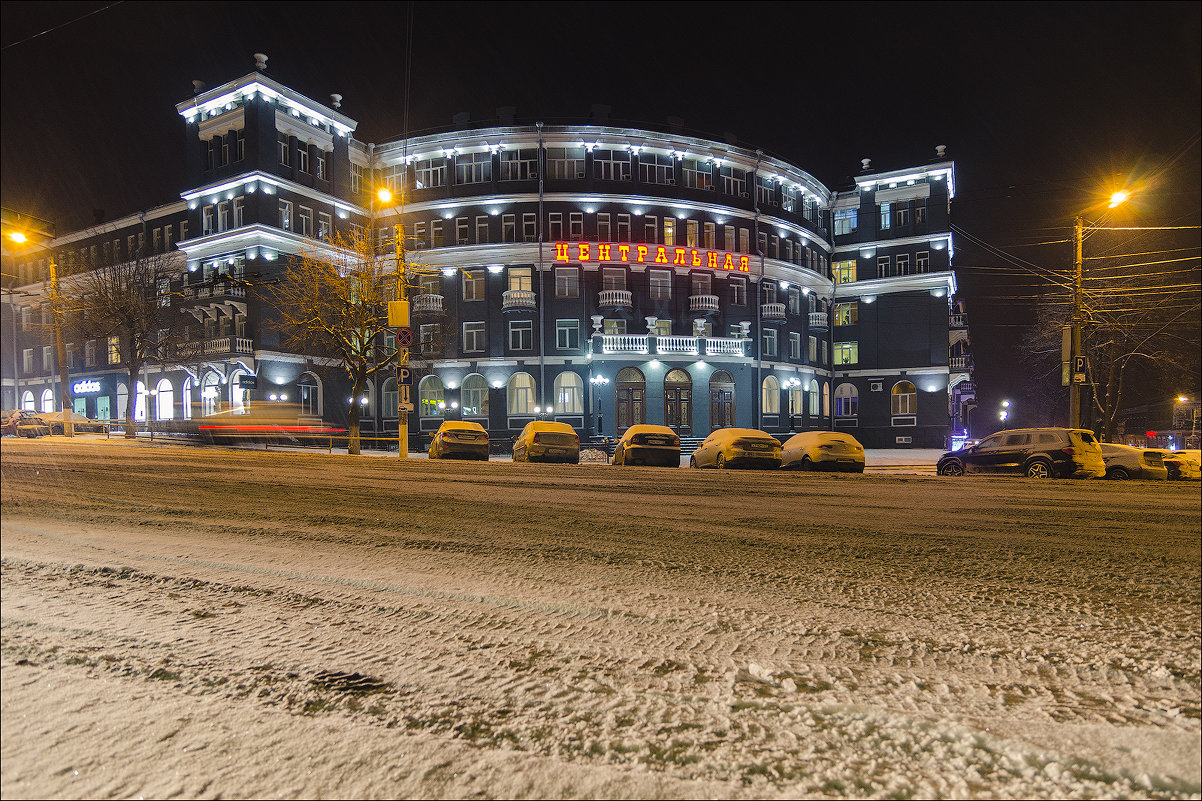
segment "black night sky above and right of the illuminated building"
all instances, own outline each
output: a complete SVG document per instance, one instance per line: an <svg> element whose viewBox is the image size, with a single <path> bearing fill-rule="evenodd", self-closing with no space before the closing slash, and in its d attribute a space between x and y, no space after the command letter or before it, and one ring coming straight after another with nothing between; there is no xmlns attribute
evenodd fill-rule
<svg viewBox="0 0 1202 801"><path fill-rule="evenodd" d="M1152 178L1129 222L1200 224L1200 7L416 4L409 130L450 126L458 112L488 124L501 106L522 123L587 121L603 103L611 121L662 127L674 115L698 136L730 131L832 188L863 158L908 167L946 144L953 222L1069 271L1073 215L1096 214L1099 195L1129 177ZM0 8L4 206L59 231L89 225L94 209L114 219L177 200L174 105L192 79L250 72L255 52L315 100L343 95L361 141L405 126L407 4ZM1034 279L966 237L956 244L981 403L995 408L1022 392L1013 345L1028 310L1012 298Z"/></svg>

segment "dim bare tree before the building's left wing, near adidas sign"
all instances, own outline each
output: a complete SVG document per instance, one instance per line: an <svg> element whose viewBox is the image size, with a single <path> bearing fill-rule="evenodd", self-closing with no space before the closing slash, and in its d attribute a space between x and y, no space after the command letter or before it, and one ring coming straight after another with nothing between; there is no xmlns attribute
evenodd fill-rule
<svg viewBox="0 0 1202 801"><path fill-rule="evenodd" d="M127 439L136 435L138 373L148 363L169 358L184 331L172 290L183 266L180 253L138 251L127 261L69 263L71 274L60 280L73 332L106 343L112 337L118 339L119 363L129 370Z"/></svg>

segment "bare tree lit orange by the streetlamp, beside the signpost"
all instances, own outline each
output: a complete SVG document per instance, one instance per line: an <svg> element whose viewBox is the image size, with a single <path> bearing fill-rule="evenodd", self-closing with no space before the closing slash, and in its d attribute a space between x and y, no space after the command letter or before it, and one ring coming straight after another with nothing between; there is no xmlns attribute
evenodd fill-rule
<svg viewBox="0 0 1202 801"><path fill-rule="evenodd" d="M359 398L379 370L395 364L397 348L385 346L388 301L395 299L398 277L392 254L377 253L373 230L350 237L334 235L328 244L294 256L284 279L273 287L273 325L290 350L337 361ZM347 415L347 452L359 452L359 404Z"/></svg>

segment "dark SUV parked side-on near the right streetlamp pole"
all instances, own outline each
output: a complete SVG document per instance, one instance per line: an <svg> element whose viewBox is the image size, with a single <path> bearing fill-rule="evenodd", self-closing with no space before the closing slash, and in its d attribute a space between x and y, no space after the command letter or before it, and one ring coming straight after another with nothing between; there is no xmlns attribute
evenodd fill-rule
<svg viewBox="0 0 1202 801"><path fill-rule="evenodd" d="M1031 479L1097 479L1106 475L1106 463L1091 431L1013 428L944 453L935 471L939 475L1008 473Z"/></svg>

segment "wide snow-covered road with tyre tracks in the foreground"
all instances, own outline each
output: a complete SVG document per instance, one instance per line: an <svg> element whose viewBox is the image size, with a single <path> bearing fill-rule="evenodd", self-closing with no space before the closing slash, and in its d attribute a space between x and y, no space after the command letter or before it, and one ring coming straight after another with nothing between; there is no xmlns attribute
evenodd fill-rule
<svg viewBox="0 0 1202 801"><path fill-rule="evenodd" d="M5 799L1197 796L1197 483L2 441Z"/></svg>

